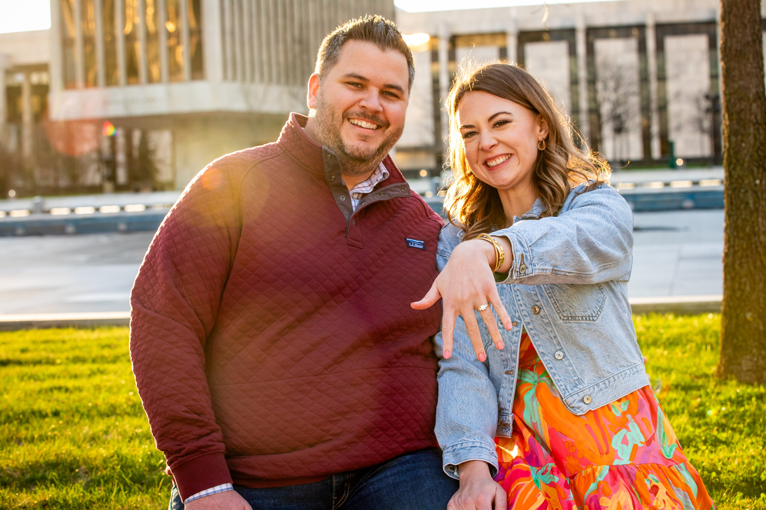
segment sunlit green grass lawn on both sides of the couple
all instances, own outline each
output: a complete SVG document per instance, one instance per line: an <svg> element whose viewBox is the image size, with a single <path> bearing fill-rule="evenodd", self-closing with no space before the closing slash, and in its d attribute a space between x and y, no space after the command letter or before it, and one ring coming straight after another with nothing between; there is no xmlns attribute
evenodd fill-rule
<svg viewBox="0 0 766 510"><path fill-rule="evenodd" d="M766 509L766 388L712 376L720 316L635 323L663 409L719 508ZM127 336L0 333L0 508L167 508Z"/></svg>

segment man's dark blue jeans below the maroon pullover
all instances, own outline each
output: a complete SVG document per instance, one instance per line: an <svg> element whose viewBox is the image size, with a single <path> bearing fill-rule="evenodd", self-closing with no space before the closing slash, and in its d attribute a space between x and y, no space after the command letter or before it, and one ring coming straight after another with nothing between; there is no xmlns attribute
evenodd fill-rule
<svg viewBox="0 0 766 510"><path fill-rule="evenodd" d="M253 510L445 510L459 482L444 474L441 450L428 448L377 466L299 486L234 486ZM184 504L173 486L169 510Z"/></svg>

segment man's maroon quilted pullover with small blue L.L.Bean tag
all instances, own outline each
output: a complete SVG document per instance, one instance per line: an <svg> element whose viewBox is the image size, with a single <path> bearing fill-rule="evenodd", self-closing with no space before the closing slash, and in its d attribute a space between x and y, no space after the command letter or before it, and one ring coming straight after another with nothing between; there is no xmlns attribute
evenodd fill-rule
<svg viewBox="0 0 766 510"><path fill-rule="evenodd" d="M279 140L191 181L130 298L130 355L183 499L316 482L437 446L441 219L390 158L352 212L335 154Z"/></svg>

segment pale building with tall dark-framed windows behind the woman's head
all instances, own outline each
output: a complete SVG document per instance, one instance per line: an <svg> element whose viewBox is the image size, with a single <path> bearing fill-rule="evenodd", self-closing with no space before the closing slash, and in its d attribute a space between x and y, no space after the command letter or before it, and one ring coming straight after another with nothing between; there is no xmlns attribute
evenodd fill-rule
<svg viewBox="0 0 766 510"><path fill-rule="evenodd" d="M766 45L766 2L762 13ZM401 167L440 170L450 83L461 69L493 61L529 70L613 164L667 164L671 154L721 161L717 0L397 11L397 23L406 34L430 36L413 48Z"/></svg>

